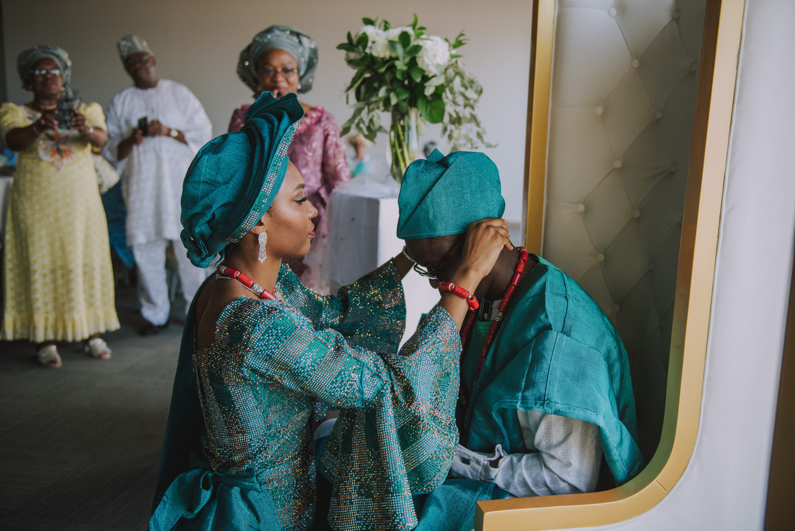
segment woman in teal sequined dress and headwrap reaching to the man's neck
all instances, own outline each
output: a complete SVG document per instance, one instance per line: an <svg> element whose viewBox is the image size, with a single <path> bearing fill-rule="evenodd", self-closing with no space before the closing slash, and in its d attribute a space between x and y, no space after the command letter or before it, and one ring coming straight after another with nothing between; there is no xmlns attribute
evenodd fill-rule
<svg viewBox="0 0 795 531"><path fill-rule="evenodd" d="M286 157L302 115L294 94L265 92L188 169L188 258L223 261L188 312L149 529L311 529L320 403L341 409L320 459L333 529L412 529L413 494L448 473L469 304L444 292L398 351L408 255L336 297L281 264L314 235L317 211ZM473 292L508 236L502 219L472 223L450 280Z"/></svg>

